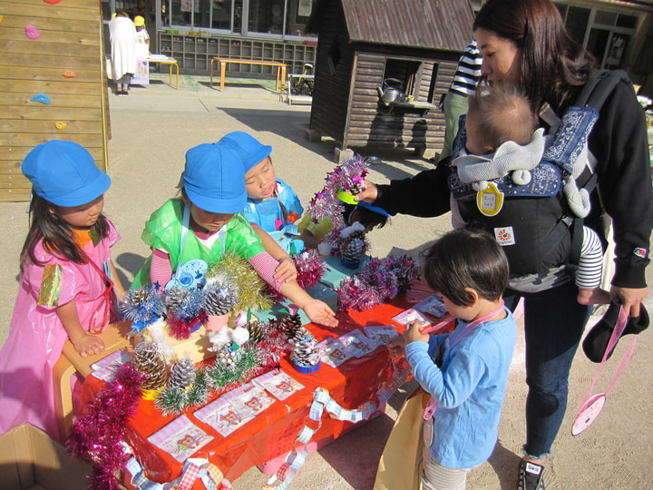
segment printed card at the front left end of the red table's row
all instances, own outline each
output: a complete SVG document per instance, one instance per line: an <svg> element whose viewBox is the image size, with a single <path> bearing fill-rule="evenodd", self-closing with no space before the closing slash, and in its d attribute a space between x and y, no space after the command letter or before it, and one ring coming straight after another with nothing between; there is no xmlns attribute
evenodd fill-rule
<svg viewBox="0 0 653 490"><path fill-rule="evenodd" d="M161 447L179 462L186 461L211 439L213 436L195 426L185 415L175 418L159 432L148 437L154 446Z"/></svg>

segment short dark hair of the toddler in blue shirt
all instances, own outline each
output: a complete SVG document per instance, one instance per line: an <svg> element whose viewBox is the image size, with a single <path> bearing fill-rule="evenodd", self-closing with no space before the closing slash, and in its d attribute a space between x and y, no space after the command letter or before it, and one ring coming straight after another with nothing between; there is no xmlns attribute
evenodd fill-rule
<svg viewBox="0 0 653 490"><path fill-rule="evenodd" d="M468 306L465 288L481 298L500 299L508 286L508 260L494 237L484 231L453 230L423 252L424 279L454 305Z"/></svg>

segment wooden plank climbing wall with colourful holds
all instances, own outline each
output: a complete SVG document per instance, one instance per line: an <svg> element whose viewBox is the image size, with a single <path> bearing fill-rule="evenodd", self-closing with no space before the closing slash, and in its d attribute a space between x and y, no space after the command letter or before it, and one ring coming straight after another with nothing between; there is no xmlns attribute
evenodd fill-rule
<svg viewBox="0 0 653 490"><path fill-rule="evenodd" d="M24 156L78 142L106 170L108 118L98 0L0 1L0 201L28 201Z"/></svg>

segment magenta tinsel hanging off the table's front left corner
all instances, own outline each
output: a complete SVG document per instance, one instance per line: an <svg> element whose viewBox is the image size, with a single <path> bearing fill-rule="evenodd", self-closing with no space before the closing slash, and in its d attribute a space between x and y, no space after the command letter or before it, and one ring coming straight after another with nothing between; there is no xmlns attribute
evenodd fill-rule
<svg viewBox="0 0 653 490"><path fill-rule="evenodd" d="M118 490L125 468L122 439L141 399L141 375L132 365L118 369L114 380L98 393L75 420L66 447L73 456L93 464L91 490Z"/></svg>

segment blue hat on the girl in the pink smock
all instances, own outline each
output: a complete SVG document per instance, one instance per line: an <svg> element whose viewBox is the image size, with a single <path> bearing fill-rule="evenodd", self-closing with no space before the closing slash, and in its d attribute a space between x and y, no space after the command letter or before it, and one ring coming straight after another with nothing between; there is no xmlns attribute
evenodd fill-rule
<svg viewBox="0 0 653 490"><path fill-rule="evenodd" d="M111 186L109 175L76 142L53 140L37 145L24 157L21 170L32 182L34 194L65 208L91 202Z"/></svg>

